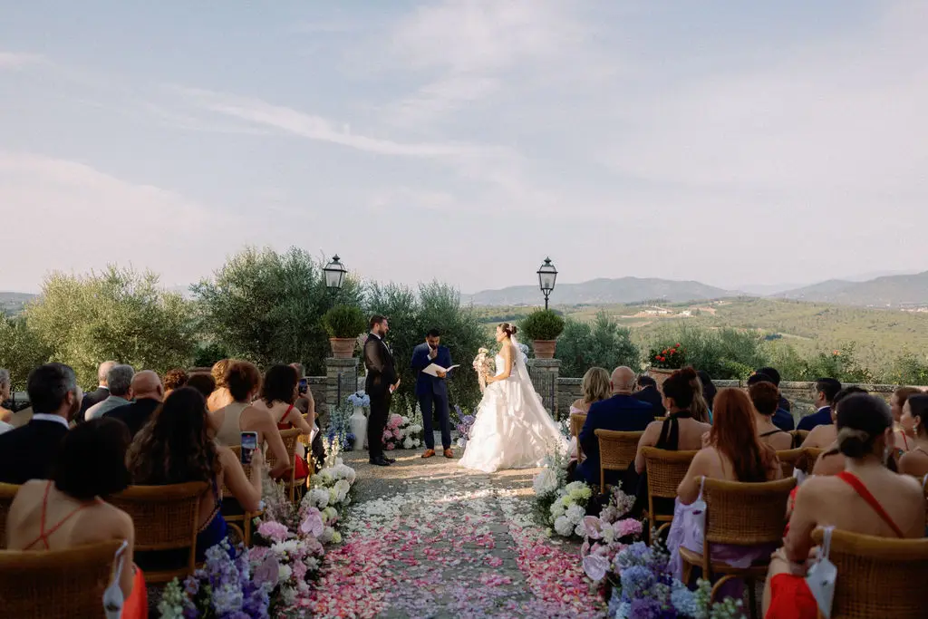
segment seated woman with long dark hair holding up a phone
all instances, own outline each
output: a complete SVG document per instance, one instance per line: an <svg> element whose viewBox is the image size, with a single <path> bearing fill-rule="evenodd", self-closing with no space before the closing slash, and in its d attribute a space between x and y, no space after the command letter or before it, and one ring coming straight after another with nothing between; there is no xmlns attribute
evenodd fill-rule
<svg viewBox="0 0 928 619"><path fill-rule="evenodd" d="M235 453L213 442L207 423L206 400L190 387L181 387L164 400L152 422L135 436L129 447L128 462L134 484L210 484L210 491L200 504L197 561L204 560L207 548L226 538L226 520L219 512L223 484L243 509L260 509L264 464L261 450L255 450L251 457L249 479ZM174 554L173 551L139 553L137 561L143 566L161 567L162 563L172 563ZM186 552L181 552L176 559L184 561L186 556Z"/></svg>

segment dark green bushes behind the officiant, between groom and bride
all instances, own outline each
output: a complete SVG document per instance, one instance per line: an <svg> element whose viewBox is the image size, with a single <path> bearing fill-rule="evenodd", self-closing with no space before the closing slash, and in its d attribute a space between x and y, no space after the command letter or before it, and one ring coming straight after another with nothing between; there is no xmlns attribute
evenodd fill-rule
<svg viewBox="0 0 928 619"><path fill-rule="evenodd" d="M470 306L461 304L457 290L432 282L420 285L417 293L405 286L375 283L367 290L367 309L390 319L387 342L393 348L402 379L393 394L398 408L415 407L416 385L409 361L413 348L425 342L429 329L442 332L442 344L448 347L454 362L461 365L448 383L450 406L475 406L480 400L480 386L477 374L470 370L470 361L483 345L483 329Z"/></svg>

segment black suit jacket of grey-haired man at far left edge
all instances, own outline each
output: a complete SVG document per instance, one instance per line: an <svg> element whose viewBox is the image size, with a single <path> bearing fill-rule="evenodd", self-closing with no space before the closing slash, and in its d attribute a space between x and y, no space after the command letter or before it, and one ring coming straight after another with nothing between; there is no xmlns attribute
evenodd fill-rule
<svg viewBox="0 0 928 619"><path fill-rule="evenodd" d="M58 444L68 429L57 421L32 419L0 434L0 482L25 484L31 479L48 479Z"/></svg>

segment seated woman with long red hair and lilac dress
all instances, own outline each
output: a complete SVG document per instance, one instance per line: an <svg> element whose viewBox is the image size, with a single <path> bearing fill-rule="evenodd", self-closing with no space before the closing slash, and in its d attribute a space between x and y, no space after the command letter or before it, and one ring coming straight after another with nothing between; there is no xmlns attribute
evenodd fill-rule
<svg viewBox="0 0 928 619"><path fill-rule="evenodd" d="M780 479L783 471L777 453L757 439L754 405L740 389L722 389L715 397L715 423L705 439L705 446L690 463L690 470L677 487L674 522L667 535L670 567L677 578L683 575L679 548L702 553L702 514L690 506L702 496L702 478L729 482L758 483ZM774 547L776 548L776 547ZM748 567L768 557L774 549L713 544L712 559L729 565Z"/></svg>

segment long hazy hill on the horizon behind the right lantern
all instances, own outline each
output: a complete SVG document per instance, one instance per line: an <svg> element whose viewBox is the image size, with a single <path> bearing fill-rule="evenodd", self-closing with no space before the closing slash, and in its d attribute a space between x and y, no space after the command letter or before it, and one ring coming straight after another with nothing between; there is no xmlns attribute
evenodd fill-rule
<svg viewBox="0 0 928 619"><path fill-rule="evenodd" d="M551 303L605 304L664 301L680 303L699 299L736 296L737 292L707 286L698 281L673 281L654 277L593 279L580 284L558 284L551 293ZM510 286L502 290L483 290L465 296L475 305L536 305L542 299L536 286Z"/></svg>

